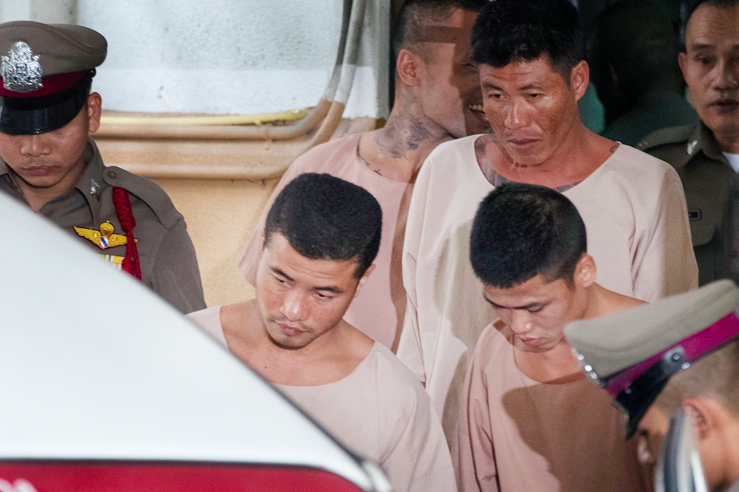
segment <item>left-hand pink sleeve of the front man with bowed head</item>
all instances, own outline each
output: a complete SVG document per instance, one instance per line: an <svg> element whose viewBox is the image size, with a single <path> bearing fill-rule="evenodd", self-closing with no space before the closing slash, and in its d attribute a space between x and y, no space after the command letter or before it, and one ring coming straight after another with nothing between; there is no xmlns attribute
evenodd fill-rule
<svg viewBox="0 0 739 492"><path fill-rule="evenodd" d="M459 492L499 492L486 375L477 353L467 370L452 462Z"/></svg>

